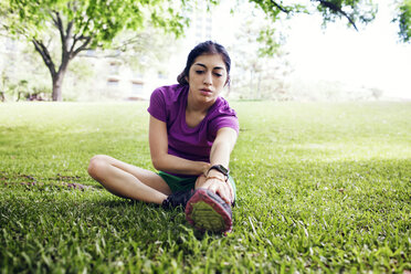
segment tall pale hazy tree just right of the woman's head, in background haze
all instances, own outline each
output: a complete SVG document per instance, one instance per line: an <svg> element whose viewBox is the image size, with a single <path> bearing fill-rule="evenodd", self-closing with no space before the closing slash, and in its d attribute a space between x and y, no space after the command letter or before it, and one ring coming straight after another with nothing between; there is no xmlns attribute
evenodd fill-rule
<svg viewBox="0 0 411 274"><path fill-rule="evenodd" d="M234 31L235 45L229 48L232 55L233 70L232 87L235 94L243 99L289 99L285 92L285 78L291 73L287 53L282 49L280 32L267 29L270 21L260 10L250 11L249 7L238 10L241 23ZM271 38L274 55L266 54L259 49L259 33L273 32Z"/></svg>

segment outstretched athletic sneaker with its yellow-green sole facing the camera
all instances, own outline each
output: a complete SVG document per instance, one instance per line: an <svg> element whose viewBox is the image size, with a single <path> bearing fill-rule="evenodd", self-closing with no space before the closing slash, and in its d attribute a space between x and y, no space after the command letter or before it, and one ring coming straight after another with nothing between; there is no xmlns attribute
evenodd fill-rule
<svg viewBox="0 0 411 274"><path fill-rule="evenodd" d="M208 189L197 189L186 205L187 221L200 231L229 232L232 210L220 196Z"/></svg>

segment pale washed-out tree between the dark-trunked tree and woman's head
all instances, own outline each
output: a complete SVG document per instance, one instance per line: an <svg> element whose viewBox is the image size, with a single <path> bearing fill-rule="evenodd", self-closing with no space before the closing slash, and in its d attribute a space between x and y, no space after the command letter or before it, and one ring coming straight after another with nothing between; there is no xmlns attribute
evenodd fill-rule
<svg viewBox="0 0 411 274"><path fill-rule="evenodd" d="M137 33L122 32L113 40L113 50L78 54L72 61L65 76L64 99L113 99L130 96L135 89L131 86L135 84L127 86L126 82L138 80L145 80L143 85L150 89L149 81L146 82L149 75L157 76L156 73L159 72L168 74L166 68L168 66L165 63L169 62L170 55L176 53L182 42L175 41L172 33L164 33L158 28L147 27ZM110 78L117 78L119 84L108 85L107 81Z"/></svg>

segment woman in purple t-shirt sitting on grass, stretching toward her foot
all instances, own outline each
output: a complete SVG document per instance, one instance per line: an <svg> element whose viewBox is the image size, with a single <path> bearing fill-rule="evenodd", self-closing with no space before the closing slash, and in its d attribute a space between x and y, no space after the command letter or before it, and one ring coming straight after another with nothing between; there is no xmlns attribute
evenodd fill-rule
<svg viewBox="0 0 411 274"><path fill-rule="evenodd" d="M182 205L197 229L230 231L235 185L228 168L239 122L219 97L230 66L225 49L207 41L190 52L179 84L152 92L149 145L158 173L104 155L91 159L88 173L116 196Z"/></svg>

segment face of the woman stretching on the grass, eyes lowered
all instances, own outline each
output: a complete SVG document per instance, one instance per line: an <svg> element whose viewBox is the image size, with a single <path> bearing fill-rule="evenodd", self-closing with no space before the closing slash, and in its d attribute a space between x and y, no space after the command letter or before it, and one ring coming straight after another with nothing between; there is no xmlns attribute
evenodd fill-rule
<svg viewBox="0 0 411 274"><path fill-rule="evenodd" d="M198 56L190 67L187 82L198 102L214 102L226 83L228 73L220 54Z"/></svg>

